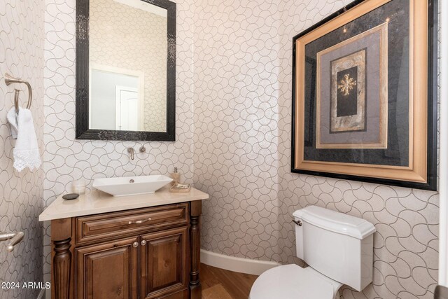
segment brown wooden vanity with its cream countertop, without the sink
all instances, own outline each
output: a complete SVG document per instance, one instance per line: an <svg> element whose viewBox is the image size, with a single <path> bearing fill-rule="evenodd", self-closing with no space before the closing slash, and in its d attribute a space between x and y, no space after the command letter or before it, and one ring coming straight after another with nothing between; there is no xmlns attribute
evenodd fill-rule
<svg viewBox="0 0 448 299"><path fill-rule="evenodd" d="M113 197L99 190L55 202L52 298L201 298L200 215L207 193Z"/></svg>

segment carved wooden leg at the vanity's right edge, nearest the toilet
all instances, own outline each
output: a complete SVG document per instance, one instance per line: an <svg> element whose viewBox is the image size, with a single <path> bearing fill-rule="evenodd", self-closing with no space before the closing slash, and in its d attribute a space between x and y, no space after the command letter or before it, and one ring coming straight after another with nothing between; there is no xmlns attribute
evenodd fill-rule
<svg viewBox="0 0 448 299"><path fill-rule="evenodd" d="M200 299L202 286L199 277L200 254L201 254L201 230L200 215L202 212L202 201L191 202L190 215L190 239L191 239L191 267L190 267L190 298Z"/></svg>

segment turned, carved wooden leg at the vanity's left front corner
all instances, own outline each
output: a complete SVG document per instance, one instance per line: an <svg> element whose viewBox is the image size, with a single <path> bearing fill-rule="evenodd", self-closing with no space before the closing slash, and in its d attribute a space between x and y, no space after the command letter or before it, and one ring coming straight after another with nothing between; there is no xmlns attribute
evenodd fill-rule
<svg viewBox="0 0 448 299"><path fill-rule="evenodd" d="M71 239L54 241L55 257L53 258L53 281L56 299L68 299L70 291L70 271L71 271Z"/></svg>

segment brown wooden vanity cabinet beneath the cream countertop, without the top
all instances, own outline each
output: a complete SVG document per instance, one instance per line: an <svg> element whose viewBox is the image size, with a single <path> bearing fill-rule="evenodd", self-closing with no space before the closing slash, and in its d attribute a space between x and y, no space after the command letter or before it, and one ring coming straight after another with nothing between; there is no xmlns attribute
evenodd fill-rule
<svg viewBox="0 0 448 299"><path fill-rule="evenodd" d="M90 239L88 242L78 242L77 234L79 223L92 221L97 218L111 221L117 219L118 212L106 213L94 216L71 217L55 219L51 221L51 256L52 256L52 299L74 299L85 298L86 293L92 292L93 288L102 289L101 284L93 279L97 277L98 270L92 268L95 260L105 260L111 255L123 254L125 270L113 273L127 277L124 284L111 286L116 288L118 293L127 292L129 298L190 298L200 299L202 297L202 286L200 282L200 215L202 214L202 201L196 200L180 204L167 204L161 207L152 208L155 211L172 211L179 207L184 208L188 213L176 221L172 220L172 215L166 214L167 225L159 225L158 230L146 223L137 223L146 227L146 230L129 231L127 225L117 227L118 234L107 239ZM130 221L135 215L147 213L148 209L135 209L123 212L124 218ZM186 222L186 219L189 220ZM103 223L104 224L104 223ZM132 224L133 225L133 224ZM162 246L160 246L162 244ZM151 246L151 247L148 247ZM154 248L160 247L157 251ZM171 246L171 247L167 247ZM160 253L161 249L167 249L168 253ZM169 255L173 249L177 249L176 258ZM165 272L157 272L159 275L167 274L167 271L174 271L176 279L172 279L173 272L160 279L171 279L168 284L157 284L158 279L154 279L155 268L153 265L160 265L160 258L165 260ZM156 260L154 260L156 259ZM158 259L158 260L157 260ZM169 263L178 263L176 267L169 268ZM115 270L109 263L106 266L109 272ZM118 270L120 267L118 268ZM174 269L174 270L167 270ZM96 272L95 272L96 271ZM149 271L149 272L148 272ZM94 273L94 274L92 274ZM104 273L107 275L108 273ZM110 273L109 273L110 274ZM101 280L100 280L101 281ZM103 281L104 282L104 281ZM100 282L101 283L101 282ZM109 286L109 281L107 282ZM117 282L110 282L111 284ZM139 291L137 291L139 290ZM167 297L167 298L168 298Z"/></svg>

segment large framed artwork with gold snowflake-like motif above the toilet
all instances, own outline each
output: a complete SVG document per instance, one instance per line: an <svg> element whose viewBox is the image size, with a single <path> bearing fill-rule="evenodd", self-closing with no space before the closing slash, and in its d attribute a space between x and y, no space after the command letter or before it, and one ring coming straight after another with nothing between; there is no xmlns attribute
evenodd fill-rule
<svg viewBox="0 0 448 299"><path fill-rule="evenodd" d="M436 5L358 0L293 38L292 172L437 189Z"/></svg>

